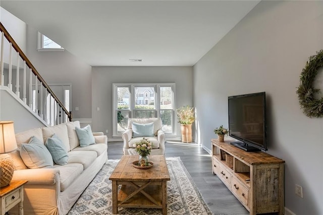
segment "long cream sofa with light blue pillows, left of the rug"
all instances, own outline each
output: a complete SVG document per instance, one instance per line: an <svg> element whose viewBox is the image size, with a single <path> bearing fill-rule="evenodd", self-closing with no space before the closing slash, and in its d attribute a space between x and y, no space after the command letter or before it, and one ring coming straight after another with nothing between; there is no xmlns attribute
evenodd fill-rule
<svg viewBox="0 0 323 215"><path fill-rule="evenodd" d="M73 204L107 161L107 137L93 133L95 144L80 147L75 127L78 121L52 127L36 128L16 134L18 149L11 153L15 164L12 180L28 180L24 185L24 214L67 214ZM29 169L20 156L22 143L32 136L46 143L53 134L59 136L68 153L66 165ZM9 211L18 214L18 207Z"/></svg>

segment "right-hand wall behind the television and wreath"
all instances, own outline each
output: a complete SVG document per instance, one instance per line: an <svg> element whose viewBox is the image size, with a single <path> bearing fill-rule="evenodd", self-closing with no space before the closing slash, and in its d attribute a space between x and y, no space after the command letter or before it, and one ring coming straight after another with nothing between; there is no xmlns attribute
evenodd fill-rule
<svg viewBox="0 0 323 215"><path fill-rule="evenodd" d="M193 69L198 140L208 149L213 129L228 126L228 96L266 92L268 153L286 160L285 206L295 214L323 214L323 119L306 117L295 92L322 48L323 2L262 1Z"/></svg>

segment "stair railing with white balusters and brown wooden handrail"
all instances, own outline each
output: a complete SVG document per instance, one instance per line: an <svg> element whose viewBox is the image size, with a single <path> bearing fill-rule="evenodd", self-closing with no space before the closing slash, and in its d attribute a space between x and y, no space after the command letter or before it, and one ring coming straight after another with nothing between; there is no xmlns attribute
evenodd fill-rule
<svg viewBox="0 0 323 215"><path fill-rule="evenodd" d="M52 92L1 22L0 30L1 86L8 86L18 99L26 103L30 110L48 125L72 121L72 113L65 108L63 103ZM17 58L13 56L17 56ZM20 77L23 78L21 79ZM16 85L13 86L12 83L16 83ZM26 89L28 89L28 93ZM21 90L23 91L22 95L20 94Z"/></svg>

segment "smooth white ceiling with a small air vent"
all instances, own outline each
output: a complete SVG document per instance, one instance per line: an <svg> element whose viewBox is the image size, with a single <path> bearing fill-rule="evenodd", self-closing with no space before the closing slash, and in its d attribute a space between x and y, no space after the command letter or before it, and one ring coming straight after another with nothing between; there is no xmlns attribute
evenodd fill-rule
<svg viewBox="0 0 323 215"><path fill-rule="evenodd" d="M0 5L91 66L193 66L258 3L2 0Z"/></svg>

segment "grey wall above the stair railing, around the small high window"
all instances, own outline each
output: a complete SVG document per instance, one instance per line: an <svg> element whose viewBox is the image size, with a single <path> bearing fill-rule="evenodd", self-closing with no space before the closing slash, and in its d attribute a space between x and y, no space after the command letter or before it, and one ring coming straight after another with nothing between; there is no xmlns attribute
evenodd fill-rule
<svg viewBox="0 0 323 215"><path fill-rule="evenodd" d="M69 51L37 51L37 30L27 28L27 57L47 84L72 84L73 118L91 118L92 67ZM75 111L75 107L79 111Z"/></svg>

